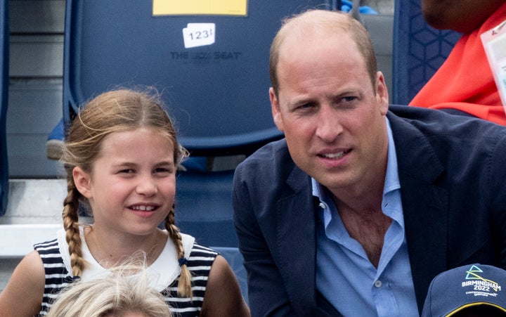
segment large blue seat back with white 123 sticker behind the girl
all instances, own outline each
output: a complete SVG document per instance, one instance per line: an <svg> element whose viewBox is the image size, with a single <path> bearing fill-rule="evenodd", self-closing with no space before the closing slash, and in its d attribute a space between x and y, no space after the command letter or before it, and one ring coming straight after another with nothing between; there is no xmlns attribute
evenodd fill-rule
<svg viewBox="0 0 506 317"><path fill-rule="evenodd" d="M330 4L244 0L246 15L191 15L179 9L169 11L181 15L153 15L155 2L67 1L66 127L91 96L140 84L163 92L181 143L194 154L238 153L280 138L267 93L271 40L281 18Z"/></svg>

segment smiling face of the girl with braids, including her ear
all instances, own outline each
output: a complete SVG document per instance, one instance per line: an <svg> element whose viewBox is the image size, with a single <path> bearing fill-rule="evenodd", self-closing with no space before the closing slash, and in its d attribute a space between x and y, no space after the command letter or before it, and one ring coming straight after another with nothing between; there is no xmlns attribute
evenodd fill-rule
<svg viewBox="0 0 506 317"><path fill-rule="evenodd" d="M102 143L87 174L74 168L74 182L88 198L94 227L149 235L174 203L174 144L155 129L115 132Z"/></svg>

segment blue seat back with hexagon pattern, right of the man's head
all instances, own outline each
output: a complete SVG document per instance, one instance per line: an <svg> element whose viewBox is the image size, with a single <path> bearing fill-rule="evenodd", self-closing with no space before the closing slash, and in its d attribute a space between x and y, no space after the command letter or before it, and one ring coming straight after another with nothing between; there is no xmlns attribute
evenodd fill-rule
<svg viewBox="0 0 506 317"><path fill-rule="evenodd" d="M392 103L408 105L446 60L460 35L427 25L420 0L395 1Z"/></svg>

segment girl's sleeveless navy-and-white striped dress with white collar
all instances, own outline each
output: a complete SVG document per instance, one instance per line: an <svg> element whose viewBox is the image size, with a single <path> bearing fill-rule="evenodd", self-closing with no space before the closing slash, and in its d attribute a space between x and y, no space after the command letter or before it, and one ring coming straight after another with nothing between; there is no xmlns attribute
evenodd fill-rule
<svg viewBox="0 0 506 317"><path fill-rule="evenodd" d="M171 307L171 312L174 317L200 316L207 285L207 277L209 276L209 271L211 270L211 266L218 252L208 247L198 245L190 235L181 234L181 237L183 238L183 245L185 245L185 255L188 259L187 266L192 274L193 299L190 300L188 297L179 297L177 294L177 284L179 282L180 273L179 267L177 271L174 270L174 267L171 268L170 265L167 266L167 271L163 269L164 265L167 264L167 261L163 259L164 257L165 259L169 256L174 257L174 259L176 258L176 254L171 252L171 250L174 249L174 244L170 239L167 240L167 245L162 254L160 254L159 259L157 259L150 268L155 266L155 268L158 269L157 273L162 276L161 280L167 281L167 287L160 290L160 292L164 296L165 302ZM89 250L85 242L86 241L82 239L84 259L89 263L92 262L91 266L93 267L93 259L89 259L91 254L86 256ZM58 238L54 240L34 245L34 249L40 254L46 274L44 299L42 300L41 311L39 311L39 316L46 316L48 309L51 308L52 302L58 297L58 293L73 282L68 245L65 241L65 231L59 231ZM169 250L169 252L166 252L167 250ZM95 262L94 266L96 265ZM83 273L83 279L85 279L84 275L86 271L87 269ZM101 267L94 267L90 271L99 271L99 273L103 273L106 270ZM176 272L176 274L174 274L174 272Z"/></svg>

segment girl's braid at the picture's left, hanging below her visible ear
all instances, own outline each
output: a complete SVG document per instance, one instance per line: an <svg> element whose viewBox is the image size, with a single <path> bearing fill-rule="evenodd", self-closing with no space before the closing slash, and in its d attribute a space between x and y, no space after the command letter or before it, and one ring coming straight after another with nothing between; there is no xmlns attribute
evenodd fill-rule
<svg viewBox="0 0 506 317"><path fill-rule="evenodd" d="M72 275L80 276L84 270L84 259L81 250L81 235L79 234L79 197L72 177L67 179L67 197L63 200L63 228L69 245L70 266Z"/></svg>

